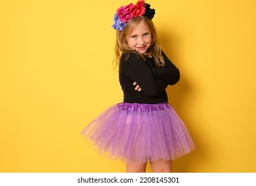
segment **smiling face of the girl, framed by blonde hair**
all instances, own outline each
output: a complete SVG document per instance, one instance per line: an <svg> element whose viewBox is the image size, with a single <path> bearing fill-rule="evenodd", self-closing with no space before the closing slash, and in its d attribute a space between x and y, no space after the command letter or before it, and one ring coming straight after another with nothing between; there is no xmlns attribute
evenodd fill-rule
<svg viewBox="0 0 256 186"><path fill-rule="evenodd" d="M145 54L151 45L151 32L144 21L139 22L135 29L126 37L127 45L140 54Z"/></svg>

